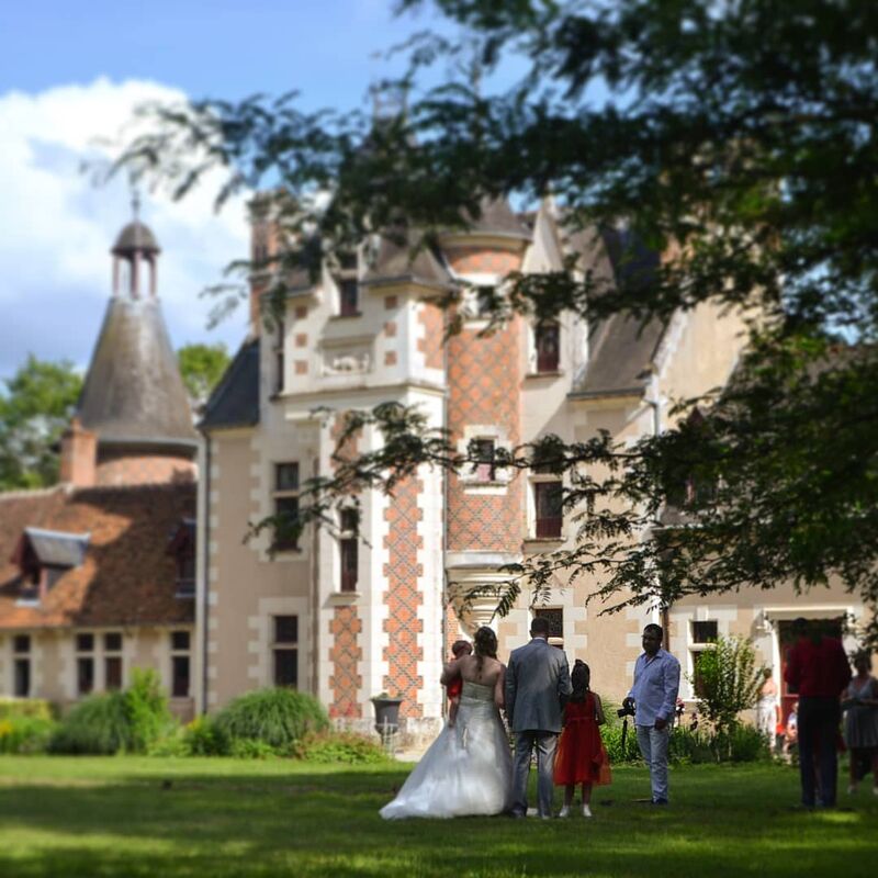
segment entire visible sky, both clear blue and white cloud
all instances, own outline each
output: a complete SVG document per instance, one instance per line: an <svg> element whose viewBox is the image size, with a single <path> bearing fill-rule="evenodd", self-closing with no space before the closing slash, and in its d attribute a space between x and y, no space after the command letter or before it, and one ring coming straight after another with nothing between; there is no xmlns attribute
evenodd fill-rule
<svg viewBox="0 0 878 878"><path fill-rule="evenodd" d="M29 352L88 363L110 294L108 250L130 218L123 180L95 189L83 158L145 99L238 99L299 89L303 104L364 106L391 68L375 57L416 30L391 0L0 3L0 378ZM243 201L144 196L162 246L159 293L175 345L244 335L244 309L209 331L199 296L246 254Z"/></svg>

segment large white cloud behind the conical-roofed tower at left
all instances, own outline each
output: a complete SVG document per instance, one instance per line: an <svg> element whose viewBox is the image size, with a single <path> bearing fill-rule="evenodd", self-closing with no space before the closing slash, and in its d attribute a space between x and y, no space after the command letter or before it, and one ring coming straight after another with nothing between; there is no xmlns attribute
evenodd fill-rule
<svg viewBox="0 0 878 878"><path fill-rule="evenodd" d="M111 292L109 250L131 218L131 194L122 178L95 188L81 165L109 156L100 142L115 137L137 104L183 98L156 82L105 78L0 94L0 375L29 351L88 363ZM243 199L217 215L215 191L209 181L178 203L148 193L142 216L162 248L159 296L175 344L223 340L234 350L245 308L209 333L211 303L199 297L247 254Z"/></svg>

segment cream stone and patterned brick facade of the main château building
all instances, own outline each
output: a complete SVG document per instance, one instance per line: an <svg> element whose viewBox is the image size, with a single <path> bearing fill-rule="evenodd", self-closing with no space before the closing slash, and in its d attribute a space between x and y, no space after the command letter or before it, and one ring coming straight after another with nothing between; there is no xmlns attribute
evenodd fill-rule
<svg viewBox="0 0 878 878"><path fill-rule="evenodd" d="M446 314L432 301L437 286L461 280L502 284L509 271L561 270L570 255L551 204L530 217L527 228L516 226L506 210L503 228L440 237L441 259L421 261L409 274L398 264L382 274L381 264L367 267L360 255L356 311L342 314L339 304L350 278L326 268L317 283L291 292L280 338L254 320L252 333L260 336L258 418L241 425L228 414L212 417L209 406L202 427L212 461L201 487L206 510L201 539L207 545L199 577L199 605L207 620L203 708L272 682L270 653L277 644L254 632L270 630L275 606L297 616L297 685L318 696L337 722L353 728L369 728L369 699L381 691L403 699L402 716L412 729L434 728L444 710L439 676L450 644L488 623L505 660L526 642L534 612L551 617L571 662L592 665L598 691L611 701L624 696L642 627L661 617L633 609L601 615L601 606L588 603L599 586L593 578L559 579L541 607L530 607L522 595L505 619L493 618L496 600L489 596L455 612L473 589L504 579L503 564L571 544L571 516L549 532L540 511L551 474L494 472L488 464L459 475L425 468L392 496L365 493L357 498L353 586L349 577L342 582L344 537L337 529L308 533L295 551L273 556L264 531L241 541L248 524L269 515L282 494L271 481L278 464L297 463L302 479L333 472L340 413L385 402L419 405L461 451L471 442L513 448L550 434L572 442L604 429L618 441L634 442L671 426L674 401L728 380L744 324L740 315L711 305L650 327L645 336L629 328L622 341L618 327L601 335L600 327L562 314L556 357L547 368L530 320L515 317L485 331L477 301L464 297L461 331L444 344ZM258 234L260 246L270 245L264 228ZM599 247L581 256L577 270L614 270ZM254 288L254 315L262 289L264 283ZM367 428L358 448L376 449L381 441ZM778 589L770 600L742 592L682 601L667 618L669 644L691 674L703 648L695 639L702 629L694 623L716 621L719 633L753 637L763 661L779 671L779 632L793 608L818 616L864 611L835 585L824 595L796 599ZM251 630L243 628L245 618ZM263 669L248 674L254 662ZM688 679L683 695L693 696Z"/></svg>

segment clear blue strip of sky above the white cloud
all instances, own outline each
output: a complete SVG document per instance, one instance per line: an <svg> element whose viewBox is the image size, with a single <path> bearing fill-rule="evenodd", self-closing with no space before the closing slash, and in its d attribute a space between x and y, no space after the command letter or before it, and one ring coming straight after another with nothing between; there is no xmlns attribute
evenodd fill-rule
<svg viewBox="0 0 878 878"><path fill-rule="evenodd" d="M0 4L0 91L157 79L192 97L303 91L312 105L361 101L386 66L373 58L427 11L391 0L80 0Z"/></svg>

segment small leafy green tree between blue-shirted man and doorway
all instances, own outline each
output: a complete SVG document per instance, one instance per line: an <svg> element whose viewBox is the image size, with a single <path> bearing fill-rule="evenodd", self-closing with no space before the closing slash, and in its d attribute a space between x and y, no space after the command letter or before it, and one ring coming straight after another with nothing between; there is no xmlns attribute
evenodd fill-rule
<svg viewBox="0 0 878 878"><path fill-rule="evenodd" d="M698 660L690 677L698 709L718 734L731 732L742 710L755 707L763 682L753 644L741 637L718 638Z"/></svg>

